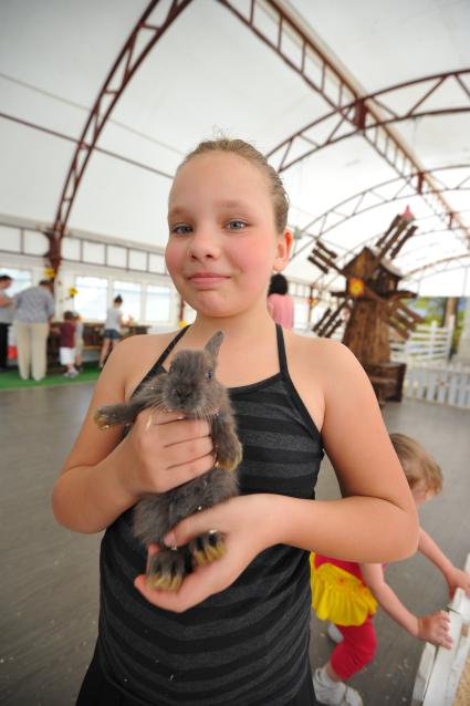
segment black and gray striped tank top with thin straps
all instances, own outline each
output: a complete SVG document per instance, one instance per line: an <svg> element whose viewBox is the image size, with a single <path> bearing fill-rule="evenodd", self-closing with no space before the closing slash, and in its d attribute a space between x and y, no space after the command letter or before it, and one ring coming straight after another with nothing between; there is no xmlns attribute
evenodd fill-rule
<svg viewBox="0 0 470 706"><path fill-rule="evenodd" d="M163 370L185 331L144 380ZM243 445L240 489L312 499L322 440L289 376L282 329L276 332L280 372L230 390ZM309 669L309 552L271 547L226 591L176 614L133 585L146 551L130 521L132 509L106 530L101 548L97 644L106 678L146 706L289 704Z"/></svg>

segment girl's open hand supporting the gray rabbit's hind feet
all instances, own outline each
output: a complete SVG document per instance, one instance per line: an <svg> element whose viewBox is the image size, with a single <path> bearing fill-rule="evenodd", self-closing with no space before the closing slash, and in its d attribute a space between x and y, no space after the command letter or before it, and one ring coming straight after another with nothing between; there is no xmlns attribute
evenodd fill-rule
<svg viewBox="0 0 470 706"><path fill-rule="evenodd" d="M165 543L178 547L202 532L217 529L224 536L224 557L198 567L176 592L149 589L145 574L137 577L134 585L154 605L176 613L182 613L213 593L223 591L257 554L278 543L280 518L273 511L272 499L270 495L239 496L186 518L171 530ZM149 556L156 551L158 548L150 546Z"/></svg>

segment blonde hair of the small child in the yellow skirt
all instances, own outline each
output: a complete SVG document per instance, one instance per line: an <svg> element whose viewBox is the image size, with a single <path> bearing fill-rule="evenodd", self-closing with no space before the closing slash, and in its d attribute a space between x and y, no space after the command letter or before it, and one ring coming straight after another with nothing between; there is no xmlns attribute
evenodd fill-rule
<svg viewBox="0 0 470 706"><path fill-rule="evenodd" d="M436 495L440 492L442 471L426 448L405 434L390 434L390 440L411 490L422 481L426 490Z"/></svg>

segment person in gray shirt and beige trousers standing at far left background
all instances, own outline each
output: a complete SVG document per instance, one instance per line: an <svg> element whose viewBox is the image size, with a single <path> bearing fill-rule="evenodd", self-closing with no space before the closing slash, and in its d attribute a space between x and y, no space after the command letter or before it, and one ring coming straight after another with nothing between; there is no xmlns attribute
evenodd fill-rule
<svg viewBox="0 0 470 706"><path fill-rule="evenodd" d="M13 298L13 324L20 377L40 381L45 376L49 323L54 315L51 282L41 280Z"/></svg>

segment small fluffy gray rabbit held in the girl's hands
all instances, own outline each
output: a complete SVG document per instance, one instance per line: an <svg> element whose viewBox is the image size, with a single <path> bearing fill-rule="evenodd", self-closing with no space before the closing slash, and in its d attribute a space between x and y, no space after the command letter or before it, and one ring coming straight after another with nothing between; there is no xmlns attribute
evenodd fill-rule
<svg viewBox="0 0 470 706"><path fill-rule="evenodd" d="M202 476L159 495L148 495L134 508L133 532L146 546L160 550L148 562L147 582L155 589L177 591L185 575L226 552L223 537L212 530L189 544L167 548L164 537L185 517L238 495L237 474L242 447L226 387L215 377L217 355L223 341L218 331L202 350L176 353L168 372L149 380L127 403L100 407L95 422L101 428L132 424L139 412L178 411L186 418L207 419L211 426L217 461Z"/></svg>

